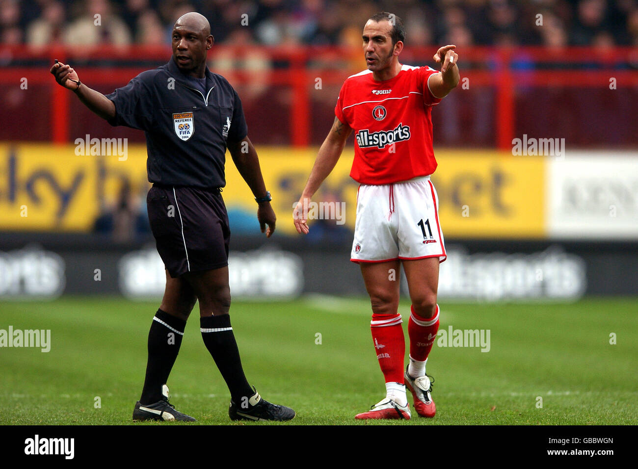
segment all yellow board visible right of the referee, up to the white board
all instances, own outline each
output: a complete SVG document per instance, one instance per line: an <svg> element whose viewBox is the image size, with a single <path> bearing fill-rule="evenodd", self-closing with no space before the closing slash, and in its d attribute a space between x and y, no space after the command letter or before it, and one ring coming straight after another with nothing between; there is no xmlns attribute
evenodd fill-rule
<svg viewBox="0 0 638 469"><path fill-rule="evenodd" d="M293 233L292 206L303 190L316 149L262 149L262 172L272 192L277 229ZM346 149L313 197L345 202L345 225L353 230L357 188L350 178L353 151ZM545 160L494 151L439 151L432 177L439 196L444 236L466 238L542 238L545 227ZM255 212L255 201L233 165L226 165L226 206ZM313 221L309 222L312 230Z"/></svg>

